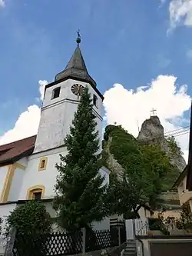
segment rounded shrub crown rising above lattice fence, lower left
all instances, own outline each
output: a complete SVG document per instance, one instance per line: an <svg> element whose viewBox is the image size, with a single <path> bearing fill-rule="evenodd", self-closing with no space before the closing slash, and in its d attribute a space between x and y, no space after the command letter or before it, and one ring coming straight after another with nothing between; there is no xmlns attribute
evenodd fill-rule
<svg viewBox="0 0 192 256"><path fill-rule="evenodd" d="M51 231L51 217L46 211L45 204L31 200L18 206L8 215L7 232L16 228L19 234L36 236Z"/></svg>

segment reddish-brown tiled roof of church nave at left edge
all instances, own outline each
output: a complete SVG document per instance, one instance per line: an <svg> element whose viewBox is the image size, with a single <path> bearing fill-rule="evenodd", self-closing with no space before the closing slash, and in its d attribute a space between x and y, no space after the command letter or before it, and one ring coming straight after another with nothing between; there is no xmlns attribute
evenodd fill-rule
<svg viewBox="0 0 192 256"><path fill-rule="evenodd" d="M31 155L35 147L36 135L0 145L0 165L9 165Z"/></svg>

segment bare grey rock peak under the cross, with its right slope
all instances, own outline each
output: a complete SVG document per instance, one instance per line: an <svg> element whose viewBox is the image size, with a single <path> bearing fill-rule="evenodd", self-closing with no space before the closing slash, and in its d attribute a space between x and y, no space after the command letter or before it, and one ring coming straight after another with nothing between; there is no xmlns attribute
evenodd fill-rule
<svg viewBox="0 0 192 256"><path fill-rule="evenodd" d="M164 137L164 127L157 116L151 116L151 118L143 122L137 139L146 144L158 143L170 158L171 164L175 165L180 172L184 170L186 162L182 152L176 144L173 150L170 141Z"/></svg>

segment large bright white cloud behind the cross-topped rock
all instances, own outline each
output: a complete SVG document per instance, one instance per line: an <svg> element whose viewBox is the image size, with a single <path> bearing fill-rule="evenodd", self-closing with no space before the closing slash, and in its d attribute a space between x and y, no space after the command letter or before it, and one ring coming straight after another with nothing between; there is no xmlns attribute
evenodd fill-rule
<svg viewBox="0 0 192 256"><path fill-rule="evenodd" d="M104 118L108 124L116 121L137 137L137 124L141 128L142 122L150 117L151 109L155 108L165 132L180 128L178 120L180 123L184 121L184 111L190 108L190 96L187 95L187 85L178 88L176 81L177 78L172 75L159 75L147 88L140 87L136 91L114 84L104 93ZM175 138L186 157L188 134Z"/></svg>

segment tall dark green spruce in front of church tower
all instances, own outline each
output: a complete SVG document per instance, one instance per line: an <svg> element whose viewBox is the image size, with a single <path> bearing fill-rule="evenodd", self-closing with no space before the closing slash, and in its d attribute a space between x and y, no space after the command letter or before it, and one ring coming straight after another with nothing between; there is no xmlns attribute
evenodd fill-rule
<svg viewBox="0 0 192 256"><path fill-rule="evenodd" d="M90 228L92 221L101 221L105 216L106 185L99 174L102 161L91 101L88 88L84 88L65 138L68 154L60 155L61 163L56 165L59 174L54 208L59 226L67 231Z"/></svg>

